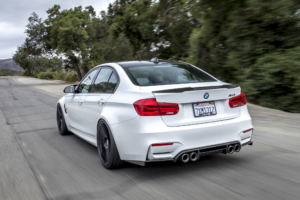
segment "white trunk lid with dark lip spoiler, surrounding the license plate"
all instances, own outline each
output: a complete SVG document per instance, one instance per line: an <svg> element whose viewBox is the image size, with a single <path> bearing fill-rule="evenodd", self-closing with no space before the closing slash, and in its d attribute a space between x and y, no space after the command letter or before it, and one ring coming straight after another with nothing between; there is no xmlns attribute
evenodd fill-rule
<svg viewBox="0 0 300 200"><path fill-rule="evenodd" d="M186 126L201 123L229 120L239 117L240 107L230 108L229 99L241 93L239 86L223 82L193 83L140 87L152 92L157 102L176 103L176 115L161 116L167 126ZM209 94L207 99L205 94ZM214 102L216 115L195 117L194 103Z"/></svg>

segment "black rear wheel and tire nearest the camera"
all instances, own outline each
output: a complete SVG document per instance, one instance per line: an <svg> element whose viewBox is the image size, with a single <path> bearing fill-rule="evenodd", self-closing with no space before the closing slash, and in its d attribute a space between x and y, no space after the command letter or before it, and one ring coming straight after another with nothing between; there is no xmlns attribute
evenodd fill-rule
<svg viewBox="0 0 300 200"><path fill-rule="evenodd" d="M123 164L113 135L104 120L100 120L98 123L97 150L101 163L105 168L115 169Z"/></svg>

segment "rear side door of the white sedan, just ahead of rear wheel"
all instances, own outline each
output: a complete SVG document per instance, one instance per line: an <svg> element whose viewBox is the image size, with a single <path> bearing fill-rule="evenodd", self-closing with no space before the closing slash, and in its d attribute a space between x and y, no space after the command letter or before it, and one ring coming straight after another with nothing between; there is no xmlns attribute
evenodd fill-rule
<svg viewBox="0 0 300 200"><path fill-rule="evenodd" d="M86 121L87 132L96 138L97 123L106 101L115 91L118 84L118 76L110 67L102 67L95 78L91 92L86 95L84 109L89 113Z"/></svg>

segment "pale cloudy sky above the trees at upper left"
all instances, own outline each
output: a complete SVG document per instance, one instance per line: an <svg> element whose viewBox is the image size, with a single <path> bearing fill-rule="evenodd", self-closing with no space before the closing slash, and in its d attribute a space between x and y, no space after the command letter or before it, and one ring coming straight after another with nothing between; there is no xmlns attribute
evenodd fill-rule
<svg viewBox="0 0 300 200"><path fill-rule="evenodd" d="M46 11L58 4L61 9L91 5L98 15L101 10L107 10L112 2L113 0L0 0L0 59L12 58L17 47L24 43L24 32L31 13L35 12L44 20L47 18Z"/></svg>

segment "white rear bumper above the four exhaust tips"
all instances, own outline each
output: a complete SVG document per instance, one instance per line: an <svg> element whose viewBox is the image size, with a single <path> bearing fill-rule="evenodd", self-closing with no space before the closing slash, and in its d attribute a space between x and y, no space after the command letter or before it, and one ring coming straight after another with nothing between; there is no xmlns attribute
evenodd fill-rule
<svg viewBox="0 0 300 200"><path fill-rule="evenodd" d="M121 159L141 162L176 160L182 152L202 147L233 142L246 145L251 142L252 128L247 106L238 118L213 123L168 127L160 117L137 116L111 125ZM243 133L247 129L252 130ZM158 143L173 145L152 146Z"/></svg>

